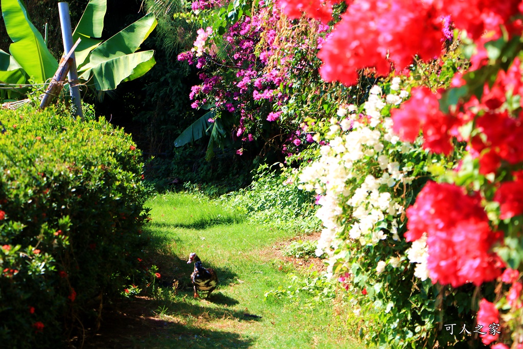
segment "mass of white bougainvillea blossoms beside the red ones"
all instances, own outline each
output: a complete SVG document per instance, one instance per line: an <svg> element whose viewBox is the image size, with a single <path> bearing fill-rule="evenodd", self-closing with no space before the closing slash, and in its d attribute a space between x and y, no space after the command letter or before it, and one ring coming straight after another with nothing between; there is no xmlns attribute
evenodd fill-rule
<svg viewBox="0 0 523 349"><path fill-rule="evenodd" d="M387 104L397 104L408 95L405 91L396 94L399 83L399 78L392 80L392 93L385 99L381 88L373 86L363 105L365 115L354 114L353 105L341 106L337 115L343 119L331 120L332 126L326 134L329 144L321 148L320 159L305 167L300 176L303 183L300 188L315 190L321 195L316 216L322 220L324 229L316 254L326 252L331 257L329 272L341 257L334 255L334 251L343 246L347 232L350 239L362 245L377 244L388 238L384 230L391 233L392 239L399 240L397 217L404 208L391 192L399 183L412 181L407 176L412 169L400 168L400 163L391 159L388 149L390 144L398 143L399 138L392 133L392 119L381 115ZM315 139L317 141L319 135ZM410 144L401 144L402 152L408 150ZM369 174L361 183L361 176L365 175L363 168L369 168ZM345 255L343 249L342 254ZM392 257L389 264L397 267L400 262L400 257ZM377 272L381 273L386 264L380 261Z"/></svg>

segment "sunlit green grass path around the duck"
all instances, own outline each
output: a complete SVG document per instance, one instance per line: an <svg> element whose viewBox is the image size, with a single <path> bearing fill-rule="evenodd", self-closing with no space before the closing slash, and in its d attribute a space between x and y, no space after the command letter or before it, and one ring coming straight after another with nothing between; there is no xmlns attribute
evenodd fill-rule
<svg viewBox="0 0 523 349"><path fill-rule="evenodd" d="M141 338L141 348L359 348L349 336L349 309L331 301L314 307L269 298L285 285L292 265L271 255L271 246L293 232L247 223L213 201L189 194L157 195L147 202L152 221L146 227L160 267L163 287L155 293L155 317L161 332ZM186 263L196 252L212 267L220 286L209 300L193 299ZM178 289L169 286L171 280ZM205 295L205 294L203 294ZM313 308L313 309L311 309Z"/></svg>

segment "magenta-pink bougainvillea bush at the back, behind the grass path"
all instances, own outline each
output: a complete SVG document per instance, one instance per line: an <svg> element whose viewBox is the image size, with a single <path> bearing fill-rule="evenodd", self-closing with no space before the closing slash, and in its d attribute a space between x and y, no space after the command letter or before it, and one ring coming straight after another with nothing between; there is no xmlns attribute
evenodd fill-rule
<svg viewBox="0 0 523 349"><path fill-rule="evenodd" d="M193 4L194 20L202 26L194 48L178 60L200 71L202 83L189 98L193 108L214 111L207 120L211 141L218 140L214 146L234 140L238 155L273 154L271 159L282 161L313 143L314 127L306 119L334 116L338 103L366 91L368 84L344 87L321 80L316 54L329 26L319 20L290 20L271 1L202 4ZM217 16L224 8L245 15Z"/></svg>

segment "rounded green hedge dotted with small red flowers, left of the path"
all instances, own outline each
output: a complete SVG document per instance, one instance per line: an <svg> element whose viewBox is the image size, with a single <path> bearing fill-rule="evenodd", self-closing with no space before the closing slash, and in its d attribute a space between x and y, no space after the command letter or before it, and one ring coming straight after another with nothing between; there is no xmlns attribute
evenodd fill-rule
<svg viewBox="0 0 523 349"><path fill-rule="evenodd" d="M60 346L136 269L140 152L106 121L53 108L2 110L0 121L0 341Z"/></svg>

